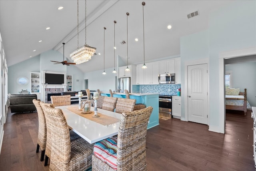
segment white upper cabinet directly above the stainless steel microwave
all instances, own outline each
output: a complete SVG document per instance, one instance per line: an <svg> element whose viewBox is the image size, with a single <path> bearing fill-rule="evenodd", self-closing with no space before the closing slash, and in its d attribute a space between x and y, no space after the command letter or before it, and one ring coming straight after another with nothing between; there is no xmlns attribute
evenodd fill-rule
<svg viewBox="0 0 256 171"><path fill-rule="evenodd" d="M159 62L159 74L175 73L175 60L163 60Z"/></svg>

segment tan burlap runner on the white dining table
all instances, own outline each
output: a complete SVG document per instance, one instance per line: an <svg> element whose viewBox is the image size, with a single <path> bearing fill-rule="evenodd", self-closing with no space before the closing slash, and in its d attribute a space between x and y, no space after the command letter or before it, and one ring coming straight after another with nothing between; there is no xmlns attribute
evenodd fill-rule
<svg viewBox="0 0 256 171"><path fill-rule="evenodd" d="M120 121L120 119L118 119L118 118L104 115L102 113L98 113L98 115L100 115L100 117L92 117L92 115L94 115L94 111L92 111L92 113L89 113L89 114L82 114L81 111L78 111L77 106L76 107L67 107L66 109L68 109L69 111L72 111L82 117L85 117L86 119L100 123L104 126L112 125L112 124L118 123Z"/></svg>

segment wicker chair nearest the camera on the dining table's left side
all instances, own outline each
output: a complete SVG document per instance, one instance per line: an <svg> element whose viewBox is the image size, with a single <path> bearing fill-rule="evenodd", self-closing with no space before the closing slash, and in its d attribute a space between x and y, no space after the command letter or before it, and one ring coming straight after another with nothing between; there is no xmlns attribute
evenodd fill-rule
<svg viewBox="0 0 256 171"><path fill-rule="evenodd" d="M51 161L49 171L85 171L92 165L93 145L82 137L70 139L65 116L61 109L40 103L51 130ZM53 143L54 142L54 143Z"/></svg>

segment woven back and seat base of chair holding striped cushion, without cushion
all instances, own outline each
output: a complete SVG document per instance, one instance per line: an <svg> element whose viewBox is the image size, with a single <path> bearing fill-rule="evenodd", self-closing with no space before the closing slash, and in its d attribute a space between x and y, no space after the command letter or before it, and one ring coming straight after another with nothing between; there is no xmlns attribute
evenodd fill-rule
<svg viewBox="0 0 256 171"><path fill-rule="evenodd" d="M153 107L122 113L117 137L117 170L146 171L146 134ZM92 156L92 170L115 171L110 165Z"/></svg>

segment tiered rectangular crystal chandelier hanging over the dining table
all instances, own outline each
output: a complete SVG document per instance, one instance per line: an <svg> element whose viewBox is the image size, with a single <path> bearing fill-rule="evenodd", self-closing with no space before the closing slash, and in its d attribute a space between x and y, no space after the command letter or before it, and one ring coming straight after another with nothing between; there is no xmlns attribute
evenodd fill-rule
<svg viewBox="0 0 256 171"><path fill-rule="evenodd" d="M96 48L90 47L86 44L86 0L85 0L85 44L84 46L79 47L79 20L78 20L78 0L77 0L77 49L70 53L70 58L76 63L81 64L92 59L92 56L96 52Z"/></svg>

